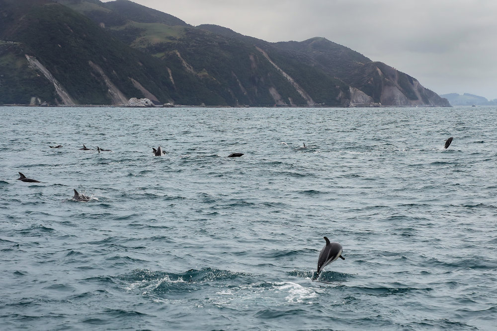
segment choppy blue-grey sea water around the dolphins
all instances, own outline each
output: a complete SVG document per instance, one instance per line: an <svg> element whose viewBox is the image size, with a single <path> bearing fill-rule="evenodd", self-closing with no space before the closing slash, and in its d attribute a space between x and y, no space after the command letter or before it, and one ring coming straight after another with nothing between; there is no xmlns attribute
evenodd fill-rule
<svg viewBox="0 0 497 331"><path fill-rule="evenodd" d="M497 330L496 124L1 107L0 329ZM346 260L314 281L323 236Z"/></svg>

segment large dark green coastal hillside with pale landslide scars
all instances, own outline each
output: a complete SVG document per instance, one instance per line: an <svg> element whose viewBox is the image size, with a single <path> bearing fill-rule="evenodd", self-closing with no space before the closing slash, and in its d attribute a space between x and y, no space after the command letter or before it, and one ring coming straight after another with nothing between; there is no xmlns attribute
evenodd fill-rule
<svg viewBox="0 0 497 331"><path fill-rule="evenodd" d="M0 103L450 106L325 38L268 43L127 0L0 0Z"/></svg>

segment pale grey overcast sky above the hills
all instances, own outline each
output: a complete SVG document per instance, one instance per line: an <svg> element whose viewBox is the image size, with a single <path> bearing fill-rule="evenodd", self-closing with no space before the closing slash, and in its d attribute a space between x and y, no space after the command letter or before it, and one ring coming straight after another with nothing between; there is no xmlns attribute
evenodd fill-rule
<svg viewBox="0 0 497 331"><path fill-rule="evenodd" d="M438 94L497 98L497 0L133 1L271 42L325 37Z"/></svg>

